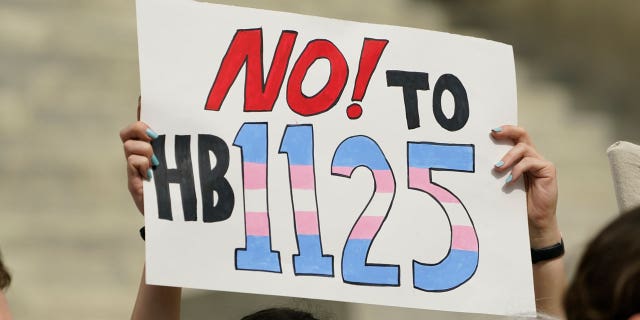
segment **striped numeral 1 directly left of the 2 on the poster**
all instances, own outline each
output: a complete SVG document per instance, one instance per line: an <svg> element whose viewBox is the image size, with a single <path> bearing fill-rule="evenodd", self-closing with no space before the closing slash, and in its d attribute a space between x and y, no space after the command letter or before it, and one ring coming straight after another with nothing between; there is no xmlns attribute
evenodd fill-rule
<svg viewBox="0 0 640 320"><path fill-rule="evenodd" d="M333 276L333 256L322 254L313 150L311 125L287 126L280 153L286 153L289 160L299 253L293 256L293 269L296 275Z"/></svg>

